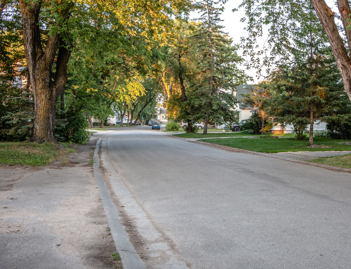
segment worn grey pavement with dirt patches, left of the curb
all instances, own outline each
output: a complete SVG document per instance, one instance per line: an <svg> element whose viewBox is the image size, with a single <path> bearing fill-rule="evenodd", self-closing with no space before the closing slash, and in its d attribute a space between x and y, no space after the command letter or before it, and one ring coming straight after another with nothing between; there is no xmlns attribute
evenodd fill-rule
<svg viewBox="0 0 351 269"><path fill-rule="evenodd" d="M90 164L94 133L66 164L0 166L0 268L118 268Z"/></svg>

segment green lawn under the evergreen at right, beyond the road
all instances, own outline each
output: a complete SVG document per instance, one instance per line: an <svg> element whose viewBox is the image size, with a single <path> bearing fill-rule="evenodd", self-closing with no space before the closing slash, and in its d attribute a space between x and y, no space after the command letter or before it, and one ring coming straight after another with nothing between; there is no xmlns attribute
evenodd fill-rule
<svg viewBox="0 0 351 269"><path fill-rule="evenodd" d="M307 148L307 140L296 140L294 138L273 139L273 138L223 138L199 140L207 143L214 143L223 146L251 150L254 152L296 152L296 151L328 151L328 150L351 150L351 145L342 144L345 140L330 139L326 137L314 137L314 144L332 146L331 148Z"/></svg>

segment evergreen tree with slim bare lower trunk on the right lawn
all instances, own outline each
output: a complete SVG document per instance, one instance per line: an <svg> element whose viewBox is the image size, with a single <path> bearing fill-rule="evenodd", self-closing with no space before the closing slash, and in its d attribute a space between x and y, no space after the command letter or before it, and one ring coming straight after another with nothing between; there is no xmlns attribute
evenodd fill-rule
<svg viewBox="0 0 351 269"><path fill-rule="evenodd" d="M311 3L307 3L294 26L291 62L281 65L272 75L276 92L268 107L278 122L294 126L298 139L310 125L309 145L313 145L314 121L337 119L340 97L345 95L335 59Z"/></svg>

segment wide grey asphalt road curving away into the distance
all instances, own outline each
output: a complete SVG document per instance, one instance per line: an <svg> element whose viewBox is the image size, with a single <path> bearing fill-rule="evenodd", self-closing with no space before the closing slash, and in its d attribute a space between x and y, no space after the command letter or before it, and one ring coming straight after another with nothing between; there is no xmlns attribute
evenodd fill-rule
<svg viewBox="0 0 351 269"><path fill-rule="evenodd" d="M106 139L120 179L190 268L350 268L350 174L147 126Z"/></svg>

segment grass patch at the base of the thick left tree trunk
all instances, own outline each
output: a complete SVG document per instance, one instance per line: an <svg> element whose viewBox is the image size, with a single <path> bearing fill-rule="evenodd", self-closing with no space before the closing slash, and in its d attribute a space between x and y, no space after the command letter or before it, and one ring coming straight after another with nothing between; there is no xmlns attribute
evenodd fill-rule
<svg viewBox="0 0 351 269"><path fill-rule="evenodd" d="M52 143L0 142L0 164L45 166L72 151Z"/></svg>

